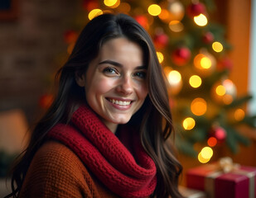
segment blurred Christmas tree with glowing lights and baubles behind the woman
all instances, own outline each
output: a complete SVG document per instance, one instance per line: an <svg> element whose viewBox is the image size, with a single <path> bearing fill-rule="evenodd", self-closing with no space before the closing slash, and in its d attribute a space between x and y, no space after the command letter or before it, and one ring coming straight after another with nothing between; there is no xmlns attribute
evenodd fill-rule
<svg viewBox="0 0 256 198"><path fill-rule="evenodd" d="M212 7L211 0L84 0L78 2L78 14L64 35L70 53L80 30L94 16L107 12L133 16L152 36L167 76L176 146L198 156L201 163L210 160L216 144L227 145L234 153L238 144L248 145L249 139L236 126L255 127L256 118L241 107L251 97L237 97L229 79L230 45L224 28L210 22ZM42 106L47 100L41 101ZM198 142L200 150L194 147Z"/></svg>

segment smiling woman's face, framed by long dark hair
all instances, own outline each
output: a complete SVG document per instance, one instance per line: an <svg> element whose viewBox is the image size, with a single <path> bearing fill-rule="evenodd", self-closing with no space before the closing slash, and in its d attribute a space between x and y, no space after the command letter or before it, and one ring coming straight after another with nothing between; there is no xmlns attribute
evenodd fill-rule
<svg viewBox="0 0 256 198"><path fill-rule="evenodd" d="M147 97L147 68L141 47L126 38L108 40L77 83L109 130L127 123Z"/></svg>

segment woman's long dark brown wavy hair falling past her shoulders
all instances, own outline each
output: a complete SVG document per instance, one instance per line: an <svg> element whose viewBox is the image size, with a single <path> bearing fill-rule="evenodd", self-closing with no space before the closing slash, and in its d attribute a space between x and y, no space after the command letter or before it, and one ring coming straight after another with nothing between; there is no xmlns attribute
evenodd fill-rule
<svg viewBox="0 0 256 198"><path fill-rule="evenodd" d="M157 187L152 197L181 197L177 190L181 165L174 157L167 138L173 131L167 87L162 66L150 36L132 17L124 14L104 14L89 21L75 44L65 65L57 73L59 89L46 114L37 123L31 141L12 172L12 194L17 197L26 177L31 160L43 144L46 134L59 122L68 123L70 115L80 101L85 101L85 91L75 82L75 74L85 73L90 61L99 54L104 42L125 37L142 47L147 64L148 96L138 112L142 146L157 166Z"/></svg>

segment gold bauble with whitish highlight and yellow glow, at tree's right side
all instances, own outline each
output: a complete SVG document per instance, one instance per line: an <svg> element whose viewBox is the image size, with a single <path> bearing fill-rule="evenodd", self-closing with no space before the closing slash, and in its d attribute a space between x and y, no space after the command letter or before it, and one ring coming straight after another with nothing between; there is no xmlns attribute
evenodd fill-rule
<svg viewBox="0 0 256 198"><path fill-rule="evenodd" d="M211 96L216 102L229 105L236 97L236 87L229 79L216 82L211 89Z"/></svg>

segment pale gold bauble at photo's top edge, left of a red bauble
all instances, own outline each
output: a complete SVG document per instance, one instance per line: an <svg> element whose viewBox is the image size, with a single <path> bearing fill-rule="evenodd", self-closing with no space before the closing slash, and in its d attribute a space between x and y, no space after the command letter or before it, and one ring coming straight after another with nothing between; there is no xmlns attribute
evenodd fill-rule
<svg viewBox="0 0 256 198"><path fill-rule="evenodd" d="M185 14L182 3L177 0L169 0L167 10L170 13L170 21L181 21Z"/></svg>

